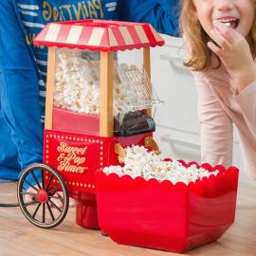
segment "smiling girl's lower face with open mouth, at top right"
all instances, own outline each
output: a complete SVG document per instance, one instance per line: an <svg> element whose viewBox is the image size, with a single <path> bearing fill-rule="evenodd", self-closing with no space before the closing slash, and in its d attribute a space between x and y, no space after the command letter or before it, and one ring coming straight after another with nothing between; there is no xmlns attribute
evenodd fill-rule
<svg viewBox="0 0 256 256"><path fill-rule="evenodd" d="M210 35L213 21L219 20L227 27L247 37L255 18L255 0L192 0L196 16Z"/></svg>

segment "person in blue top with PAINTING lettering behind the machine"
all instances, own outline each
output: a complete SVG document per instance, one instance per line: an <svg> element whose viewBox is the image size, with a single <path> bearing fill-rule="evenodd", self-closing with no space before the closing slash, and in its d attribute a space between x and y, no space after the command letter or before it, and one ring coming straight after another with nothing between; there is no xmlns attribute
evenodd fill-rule
<svg viewBox="0 0 256 256"><path fill-rule="evenodd" d="M177 35L175 6L174 0L0 0L0 178L17 179L43 159L47 48L32 40L46 23L120 19Z"/></svg>

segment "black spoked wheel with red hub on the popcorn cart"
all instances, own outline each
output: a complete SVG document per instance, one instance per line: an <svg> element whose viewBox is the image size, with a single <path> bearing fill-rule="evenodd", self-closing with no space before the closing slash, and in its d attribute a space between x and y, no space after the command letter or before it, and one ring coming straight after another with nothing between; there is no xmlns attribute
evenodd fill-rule
<svg viewBox="0 0 256 256"><path fill-rule="evenodd" d="M18 201L27 220L43 229L61 224L69 206L64 179L45 164L34 164L23 172L18 181Z"/></svg>

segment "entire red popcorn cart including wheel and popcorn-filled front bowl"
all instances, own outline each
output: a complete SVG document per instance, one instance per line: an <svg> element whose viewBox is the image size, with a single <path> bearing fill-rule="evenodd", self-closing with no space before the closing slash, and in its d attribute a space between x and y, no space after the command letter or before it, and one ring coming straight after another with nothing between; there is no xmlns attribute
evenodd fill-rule
<svg viewBox="0 0 256 256"><path fill-rule="evenodd" d="M229 229L238 169L160 159L151 25L50 23L34 43L48 46L44 164L18 182L32 224L56 227L73 197L78 225L123 245L184 252Z"/></svg>

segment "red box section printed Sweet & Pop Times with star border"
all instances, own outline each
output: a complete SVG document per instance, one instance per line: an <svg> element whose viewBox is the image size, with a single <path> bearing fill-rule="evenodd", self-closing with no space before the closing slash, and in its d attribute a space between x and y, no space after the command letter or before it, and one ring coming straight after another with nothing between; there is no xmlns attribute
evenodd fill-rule
<svg viewBox="0 0 256 256"><path fill-rule="evenodd" d="M96 137L45 130L44 162L62 174L70 195L95 192L95 172L119 164L115 145L144 145L144 138L151 136Z"/></svg>

